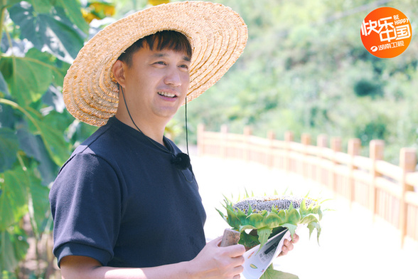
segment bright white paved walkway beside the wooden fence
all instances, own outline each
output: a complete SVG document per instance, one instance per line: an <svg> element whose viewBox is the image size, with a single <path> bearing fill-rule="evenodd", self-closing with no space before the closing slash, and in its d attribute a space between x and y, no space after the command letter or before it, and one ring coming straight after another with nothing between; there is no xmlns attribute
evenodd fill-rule
<svg viewBox="0 0 418 279"><path fill-rule="evenodd" d="M217 209L223 209L223 195L233 200L245 189L254 194L282 193L331 198L328 211L321 221L320 245L316 232L299 231L301 240L288 256L277 258L278 270L293 273L299 279L417 279L418 244L407 240L400 248L399 232L380 219L373 222L362 206L351 208L345 199L333 196L326 189L309 184L300 177L288 176L260 164L213 157L192 156L193 170L198 179L208 219L205 226L208 241L223 234L228 227ZM225 211L224 211L225 212Z"/></svg>

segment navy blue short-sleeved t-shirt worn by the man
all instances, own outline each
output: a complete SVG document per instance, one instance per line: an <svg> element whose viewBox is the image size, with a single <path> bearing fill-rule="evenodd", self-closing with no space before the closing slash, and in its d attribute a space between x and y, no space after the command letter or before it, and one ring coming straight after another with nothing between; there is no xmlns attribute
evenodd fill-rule
<svg viewBox="0 0 418 279"><path fill-rule="evenodd" d="M73 255L144 268L191 260L205 246L193 172L150 140L112 117L60 169L50 191L58 263Z"/></svg>

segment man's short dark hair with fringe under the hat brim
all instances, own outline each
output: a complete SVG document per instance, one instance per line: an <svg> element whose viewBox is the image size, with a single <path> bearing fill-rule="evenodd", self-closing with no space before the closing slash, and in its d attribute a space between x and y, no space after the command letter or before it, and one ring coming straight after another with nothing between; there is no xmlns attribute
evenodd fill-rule
<svg viewBox="0 0 418 279"><path fill-rule="evenodd" d="M191 58L192 56L191 44L183 33L173 30L164 30L140 38L133 43L132 46L129 46L129 48L127 48L117 59L127 63L129 67L132 66L132 56L136 51L139 51L140 48L144 47L144 42L151 51L153 51L154 48L156 51L169 49L171 51L183 52L188 58Z"/></svg>

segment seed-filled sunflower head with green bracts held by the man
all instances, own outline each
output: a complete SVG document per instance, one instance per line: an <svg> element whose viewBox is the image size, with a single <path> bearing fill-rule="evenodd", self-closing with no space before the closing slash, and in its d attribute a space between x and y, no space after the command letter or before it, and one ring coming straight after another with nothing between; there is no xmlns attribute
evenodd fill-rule
<svg viewBox="0 0 418 279"><path fill-rule="evenodd" d="M308 226L309 236L316 229L319 241L322 201L289 195L247 196L235 204L227 198L224 201L226 215L217 210L232 228L240 231L240 243L247 248L258 244L261 244L261 248L283 228L288 228L293 237L297 226L301 224ZM246 230L252 231L246 233Z"/></svg>

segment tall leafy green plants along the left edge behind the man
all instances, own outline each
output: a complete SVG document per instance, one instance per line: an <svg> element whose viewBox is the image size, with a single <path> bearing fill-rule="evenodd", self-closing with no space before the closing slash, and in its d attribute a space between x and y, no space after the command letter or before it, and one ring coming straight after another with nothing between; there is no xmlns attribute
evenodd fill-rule
<svg viewBox="0 0 418 279"><path fill-rule="evenodd" d="M60 93L90 28L80 9L77 0L0 4L0 278L19 278L28 237L50 233L49 186L94 130L64 110Z"/></svg>

